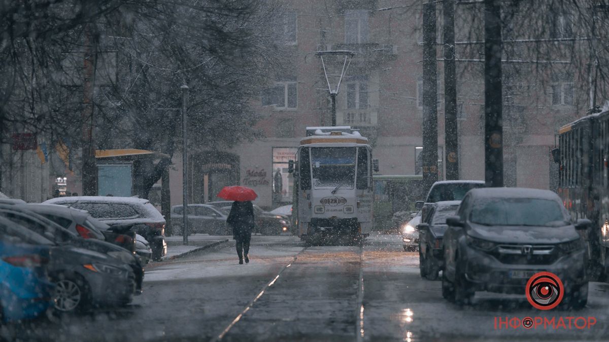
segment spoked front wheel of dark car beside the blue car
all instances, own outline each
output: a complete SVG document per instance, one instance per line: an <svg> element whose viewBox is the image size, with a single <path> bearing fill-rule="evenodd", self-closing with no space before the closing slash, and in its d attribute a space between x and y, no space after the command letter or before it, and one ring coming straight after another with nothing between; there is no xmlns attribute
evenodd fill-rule
<svg viewBox="0 0 609 342"><path fill-rule="evenodd" d="M55 279L53 304L60 312L75 312L88 309L91 304L88 284L80 276L60 274Z"/></svg>

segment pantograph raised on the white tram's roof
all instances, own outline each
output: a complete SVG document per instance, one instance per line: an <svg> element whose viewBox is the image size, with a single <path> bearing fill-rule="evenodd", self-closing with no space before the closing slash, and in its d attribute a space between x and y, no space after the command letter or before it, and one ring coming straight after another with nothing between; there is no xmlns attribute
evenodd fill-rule
<svg viewBox="0 0 609 342"><path fill-rule="evenodd" d="M351 64L353 51L317 51L315 55L322 60L323 74L326 76L328 91L332 98L332 125L336 126L336 95L340 82Z"/></svg>

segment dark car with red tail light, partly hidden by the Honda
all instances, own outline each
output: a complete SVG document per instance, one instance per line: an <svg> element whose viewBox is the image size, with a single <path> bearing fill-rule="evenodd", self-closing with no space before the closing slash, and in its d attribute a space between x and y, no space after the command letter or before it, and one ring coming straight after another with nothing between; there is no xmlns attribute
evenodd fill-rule
<svg viewBox="0 0 609 342"><path fill-rule="evenodd" d="M433 203L428 218L419 223L419 269L421 277L435 281L444 266L444 245L442 238L446 231L446 217L457 212L461 201L440 201Z"/></svg>

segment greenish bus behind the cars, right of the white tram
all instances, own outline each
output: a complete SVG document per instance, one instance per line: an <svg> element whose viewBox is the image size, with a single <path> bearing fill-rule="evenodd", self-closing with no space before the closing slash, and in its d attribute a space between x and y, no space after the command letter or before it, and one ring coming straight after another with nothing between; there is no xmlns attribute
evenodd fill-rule
<svg viewBox="0 0 609 342"><path fill-rule="evenodd" d="M423 175L374 175L374 227L378 231L393 229L393 214L416 211L415 202L424 198Z"/></svg>

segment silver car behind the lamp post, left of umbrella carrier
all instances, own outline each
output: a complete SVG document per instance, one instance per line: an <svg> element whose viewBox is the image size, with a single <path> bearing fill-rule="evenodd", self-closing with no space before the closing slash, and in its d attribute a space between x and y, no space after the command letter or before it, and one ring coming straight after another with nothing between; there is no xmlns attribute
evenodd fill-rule
<svg viewBox="0 0 609 342"><path fill-rule="evenodd" d="M184 207L180 204L171 207L171 226L175 234L183 234L182 215ZM191 233L207 233L211 235L230 235L227 225L227 214L209 204L188 204L188 228Z"/></svg>

